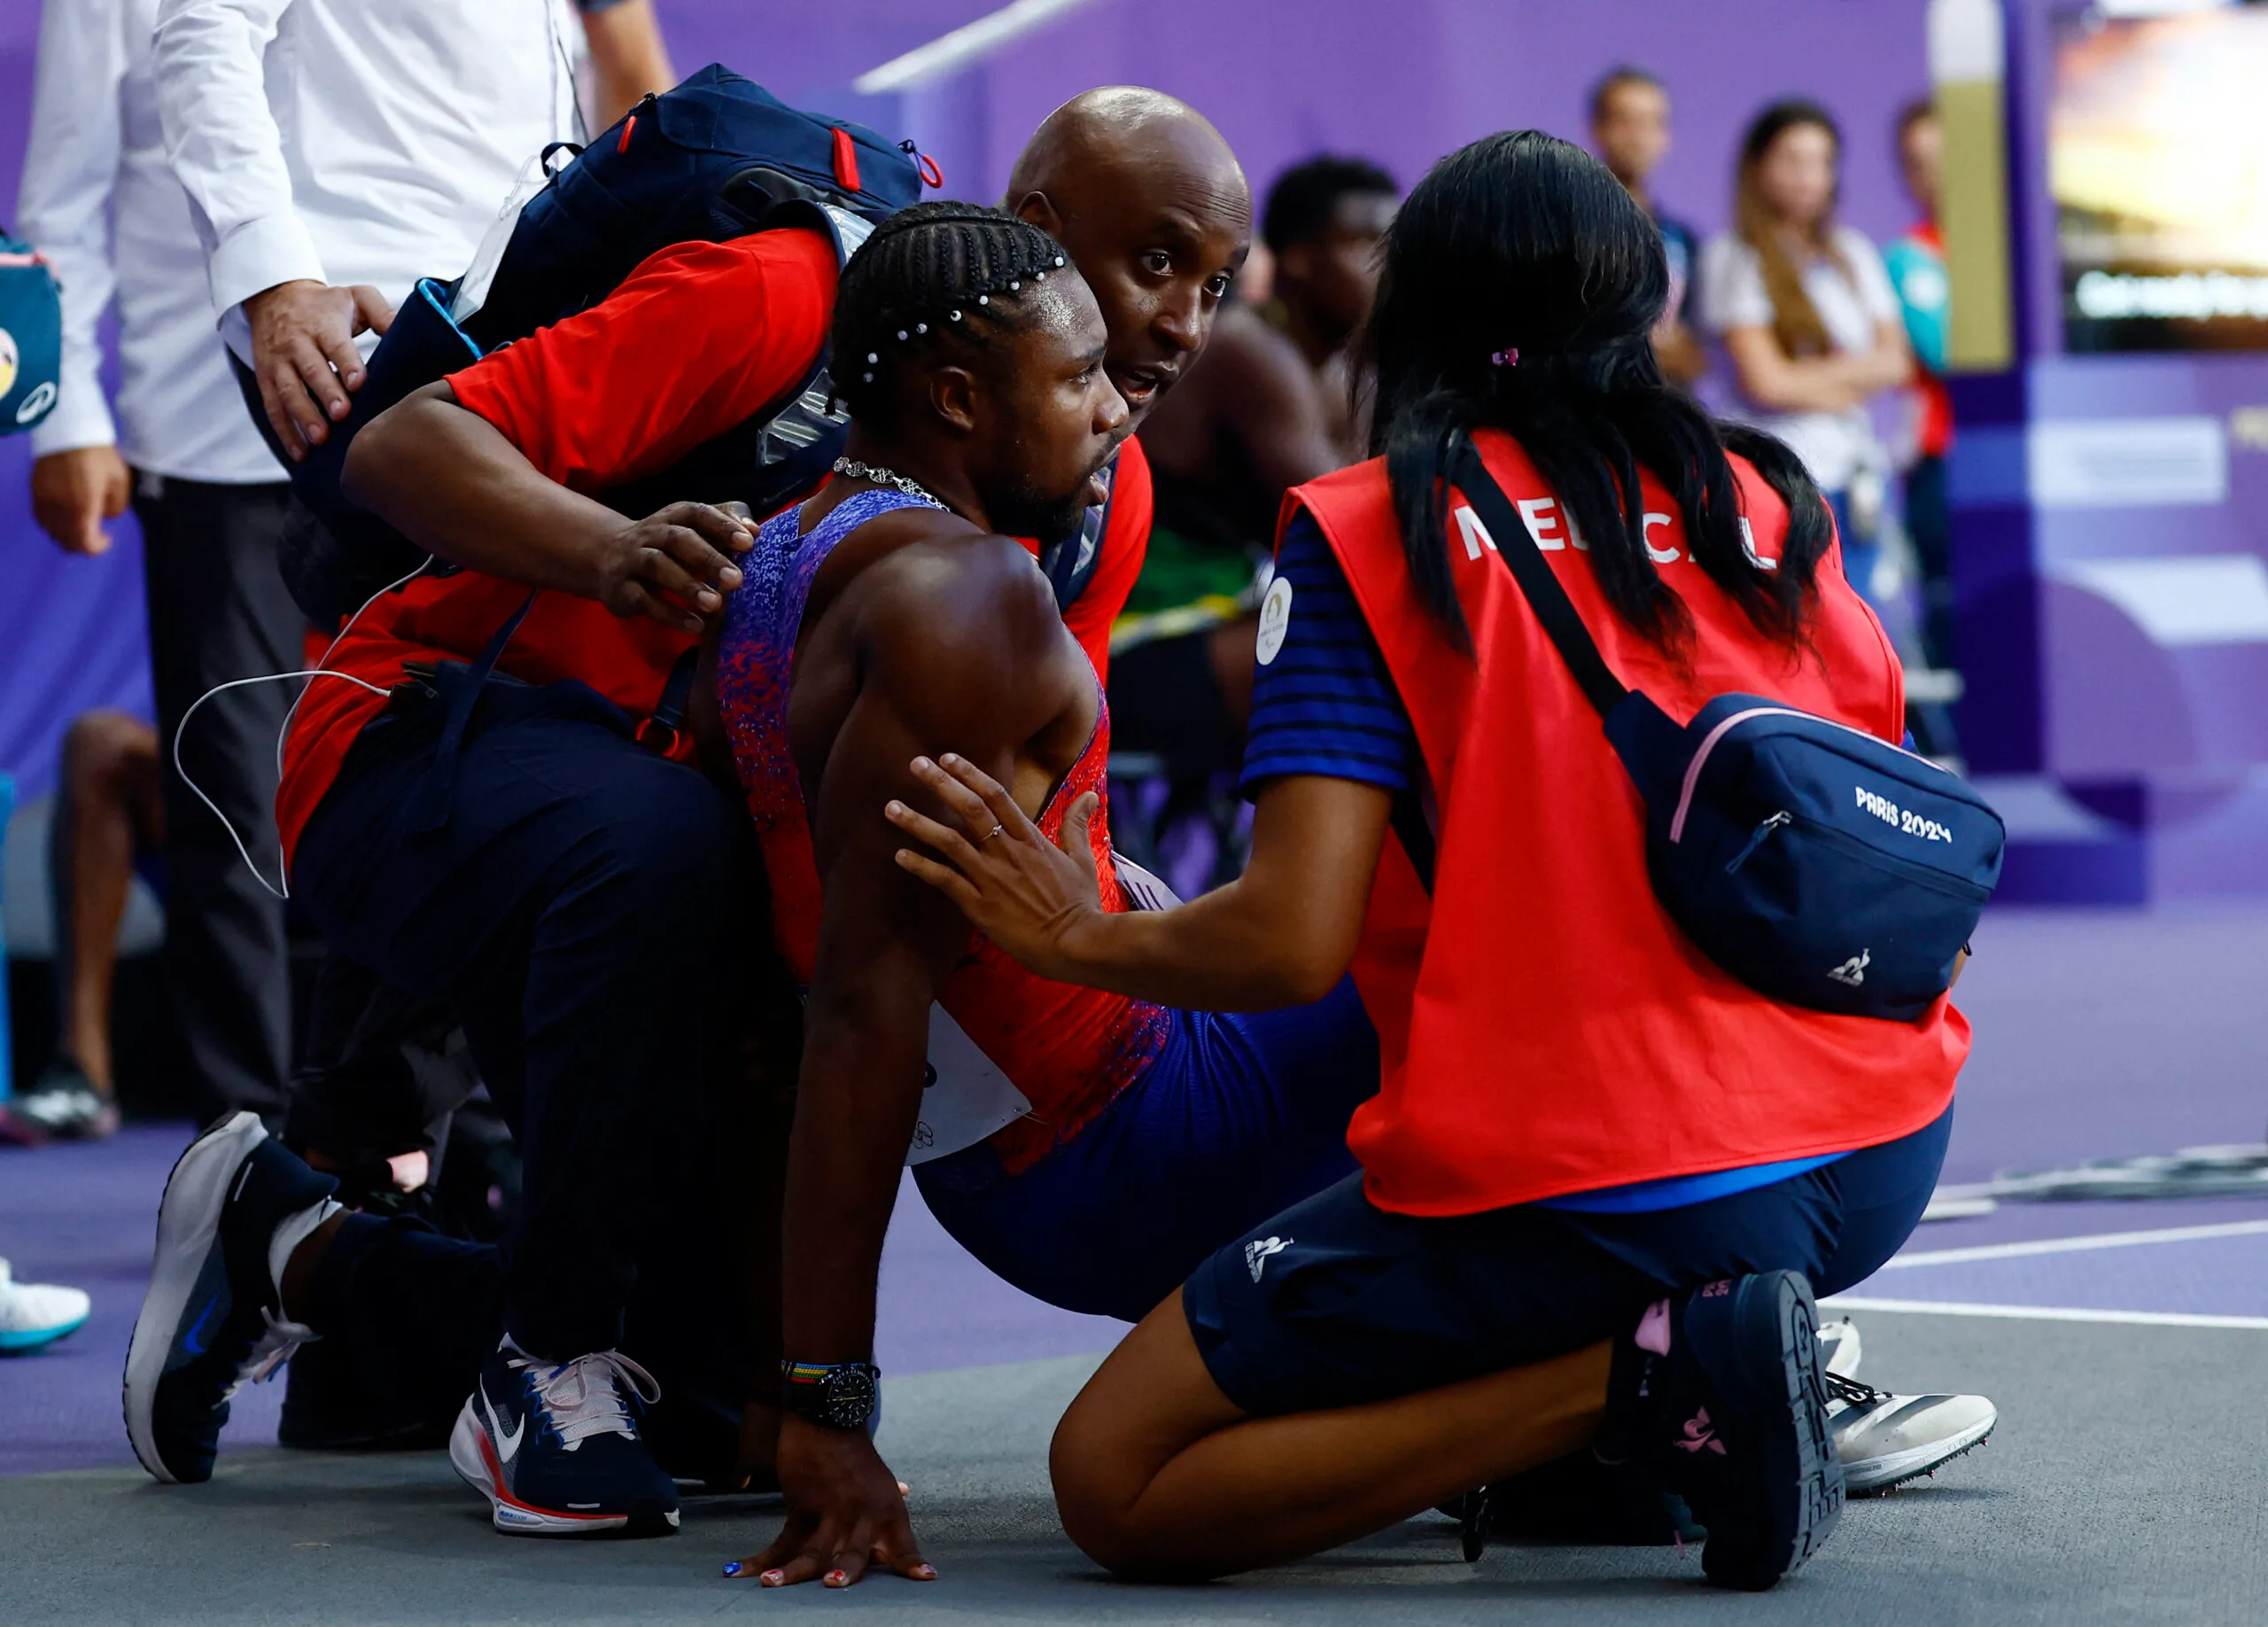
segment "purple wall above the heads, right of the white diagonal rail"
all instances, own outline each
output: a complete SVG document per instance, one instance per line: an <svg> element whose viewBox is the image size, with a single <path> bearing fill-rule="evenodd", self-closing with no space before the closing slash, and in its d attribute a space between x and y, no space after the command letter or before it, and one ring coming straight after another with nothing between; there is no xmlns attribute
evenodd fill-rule
<svg viewBox="0 0 2268 1627"><path fill-rule="evenodd" d="M989 200L1048 109L1134 82L1202 109L1261 191L1318 147L1374 157L1411 184L1492 129L1581 141L1590 86L1637 64L1674 98L1658 186L1674 213L1721 225L1742 125L1805 93L1844 123L1846 218L1889 236L1910 213L1892 120L1928 93L1923 11L1923 0L1093 0L962 79L909 93L903 123L943 159L950 191Z"/></svg>

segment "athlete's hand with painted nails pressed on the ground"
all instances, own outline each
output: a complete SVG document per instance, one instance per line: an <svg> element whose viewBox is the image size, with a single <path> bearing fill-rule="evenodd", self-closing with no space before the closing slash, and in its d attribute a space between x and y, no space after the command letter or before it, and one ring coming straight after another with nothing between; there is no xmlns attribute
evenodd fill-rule
<svg viewBox="0 0 2268 1627"><path fill-rule="evenodd" d="M905 1486L864 1430L787 1418L780 1425L780 1489L787 1529L755 1559L728 1563L728 1577L755 1577L767 1588L812 1579L846 1588L866 1566L882 1566L914 1582L937 1579L937 1568L914 1548Z"/></svg>

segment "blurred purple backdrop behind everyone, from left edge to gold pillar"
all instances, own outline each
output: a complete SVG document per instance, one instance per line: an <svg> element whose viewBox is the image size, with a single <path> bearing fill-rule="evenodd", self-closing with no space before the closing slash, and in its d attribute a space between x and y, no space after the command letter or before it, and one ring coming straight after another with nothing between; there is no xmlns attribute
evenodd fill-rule
<svg viewBox="0 0 2268 1627"><path fill-rule="evenodd" d="M1093 84L1154 84L1195 102L1256 188L1318 147L1377 157L1408 184L1490 129L1579 138L1590 84L1635 61L1676 98L1660 200L1696 227L1724 220L1742 123L1792 91L1844 118L1846 218L1887 236L1907 216L1889 120L1928 88L1923 0L1093 0L950 82L850 93L866 68L996 2L655 7L680 68L723 61L792 102L916 136L962 197L996 197L1039 118ZM36 0L0 0L0 220L16 202L36 29ZM36 792L70 717L147 713L147 676L132 522L116 526L109 558L66 560L29 522L27 467L23 438L0 440L0 772Z"/></svg>

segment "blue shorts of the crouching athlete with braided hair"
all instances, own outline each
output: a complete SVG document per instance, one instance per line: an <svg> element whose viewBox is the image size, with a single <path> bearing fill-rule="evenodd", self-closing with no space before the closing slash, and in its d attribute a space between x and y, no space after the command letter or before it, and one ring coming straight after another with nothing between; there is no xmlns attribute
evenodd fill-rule
<svg viewBox="0 0 2268 1627"><path fill-rule="evenodd" d="M937 1221L1050 1305L1141 1321L1245 1228L1356 1169L1379 1089L1354 983L1284 1012L1175 1012L1157 1062L1021 1175L980 1141L914 1166Z"/></svg>

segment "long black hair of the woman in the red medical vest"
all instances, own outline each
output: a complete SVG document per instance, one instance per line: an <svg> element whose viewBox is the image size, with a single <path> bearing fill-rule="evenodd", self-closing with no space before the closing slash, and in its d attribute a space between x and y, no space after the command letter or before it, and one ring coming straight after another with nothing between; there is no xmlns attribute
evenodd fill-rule
<svg viewBox="0 0 2268 1627"><path fill-rule="evenodd" d="M1826 501L1785 445L1712 420L1672 388L1651 331L1669 297L1662 238L1606 166L1533 129L1442 159L1395 216L1363 338L1377 377L1374 454L1420 601L1461 649L1445 533L1447 470L1474 429L1513 436L1558 495L1615 613L1669 651L1692 610L1647 551L1640 470L1678 506L1696 565L1776 642L1801 647ZM1726 452L1787 501L1776 563L1742 531Z"/></svg>

